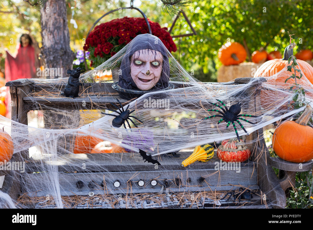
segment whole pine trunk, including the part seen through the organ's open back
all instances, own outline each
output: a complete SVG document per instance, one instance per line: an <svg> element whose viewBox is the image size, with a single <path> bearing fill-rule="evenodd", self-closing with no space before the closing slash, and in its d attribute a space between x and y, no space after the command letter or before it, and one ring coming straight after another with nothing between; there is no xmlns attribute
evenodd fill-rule
<svg viewBox="0 0 313 230"><path fill-rule="evenodd" d="M69 28L66 17L65 0L47 0L41 13L41 54L44 68L62 68L62 77L68 77L68 69L73 69L75 54L69 46ZM60 72L60 71L58 71ZM47 78L58 78L49 76ZM78 125L79 111L44 111L45 128L65 129ZM72 126L71 126L72 125Z"/></svg>

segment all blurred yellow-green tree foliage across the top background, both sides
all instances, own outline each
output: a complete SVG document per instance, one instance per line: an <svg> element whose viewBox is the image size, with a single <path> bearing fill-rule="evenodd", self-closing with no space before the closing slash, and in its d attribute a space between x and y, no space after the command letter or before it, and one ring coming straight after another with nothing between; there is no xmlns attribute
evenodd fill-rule
<svg viewBox="0 0 313 230"><path fill-rule="evenodd" d="M98 1L65 0L71 47L73 50L82 49L92 24L104 13L118 7L130 6L129 0ZM159 1L141 0L134 5L140 8L151 21L160 23L161 27L170 28L174 16L162 10ZM265 8L264 8L265 7ZM277 49L281 52L289 44L287 31L295 33L297 49L313 49L313 20L311 0L199 0L192 1L186 7L185 13L197 31L197 35L174 38L177 52L173 53L176 59L188 71L202 68L204 74L211 70L208 68L212 60L218 68L218 49L227 41L236 41L243 44L245 40L250 54L269 43L267 51ZM6 47L12 53L18 42L18 38L25 30L30 31L39 42L40 36L40 12L26 2L18 0L3 0L0 4L0 53ZM72 16L73 13L73 16ZM116 11L99 22L107 22L114 18L142 17L135 10ZM70 24L73 18L78 28ZM23 28L23 29L22 29ZM189 25L183 17L178 18L172 35L191 33ZM10 38L14 43L10 43ZM300 43L302 42L302 44ZM199 70L200 71L200 70ZM215 77L216 69L212 71ZM197 76L196 76L197 77Z"/></svg>

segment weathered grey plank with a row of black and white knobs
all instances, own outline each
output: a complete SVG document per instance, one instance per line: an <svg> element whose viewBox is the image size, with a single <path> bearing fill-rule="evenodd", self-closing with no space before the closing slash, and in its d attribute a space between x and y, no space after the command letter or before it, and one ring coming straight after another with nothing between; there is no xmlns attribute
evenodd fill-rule
<svg viewBox="0 0 313 230"><path fill-rule="evenodd" d="M164 180L167 180L169 192L194 192L200 190L228 191L233 188L233 185L235 185L235 187L238 185L249 187L251 189L258 189L259 187L256 184L257 176L255 173L252 173L253 168L251 167L241 168L239 173L230 170L217 171L214 169L137 172L116 171L102 173L58 172L53 180L59 182L60 194L64 196L88 195L89 192L94 192L95 194L126 194L130 193L130 191L132 193L160 192L162 186L166 186L166 181ZM50 181L51 176L52 175L47 172L25 174L24 180L27 191L23 192L30 192L30 194L28 194L29 196L46 196L55 186L55 182ZM177 180L177 178L179 180ZM204 180L199 181L199 178L204 178ZM114 182L117 180L119 181L120 186L114 187ZM139 180L144 181L144 186L140 187L138 185ZM151 180L156 180L157 185L153 187L150 183ZM78 183L81 186L80 188L78 188ZM103 185L105 185L105 187ZM39 188L40 190L37 191ZM164 191L165 190L166 188L164 188Z"/></svg>

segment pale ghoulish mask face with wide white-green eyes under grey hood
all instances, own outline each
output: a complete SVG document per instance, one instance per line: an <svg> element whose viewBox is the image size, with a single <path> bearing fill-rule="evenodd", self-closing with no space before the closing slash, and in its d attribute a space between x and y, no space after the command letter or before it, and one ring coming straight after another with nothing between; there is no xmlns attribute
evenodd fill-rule
<svg viewBox="0 0 313 230"><path fill-rule="evenodd" d="M152 89L162 73L163 55L159 51L141 49L136 51L130 60L131 78L138 89Z"/></svg>

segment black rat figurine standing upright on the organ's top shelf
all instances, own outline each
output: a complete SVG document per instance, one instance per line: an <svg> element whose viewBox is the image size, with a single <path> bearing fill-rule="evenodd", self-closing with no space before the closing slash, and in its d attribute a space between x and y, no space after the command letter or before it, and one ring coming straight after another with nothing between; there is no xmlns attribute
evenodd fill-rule
<svg viewBox="0 0 313 230"><path fill-rule="evenodd" d="M80 70L80 67L74 68L73 70L67 70L67 73L69 74L69 80L63 91L63 95L66 97L78 97L79 86L83 85L79 82Z"/></svg>

